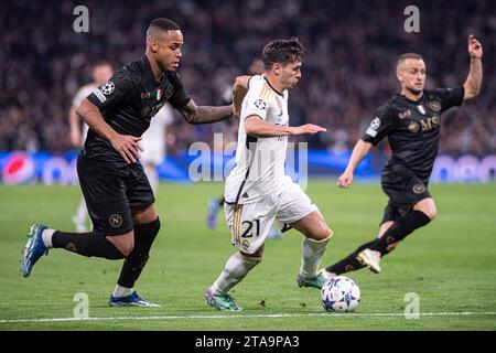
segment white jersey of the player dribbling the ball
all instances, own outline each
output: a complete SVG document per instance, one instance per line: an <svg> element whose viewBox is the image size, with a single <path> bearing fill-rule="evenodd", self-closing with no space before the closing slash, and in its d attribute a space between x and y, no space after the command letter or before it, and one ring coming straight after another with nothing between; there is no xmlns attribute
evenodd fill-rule
<svg viewBox="0 0 496 353"><path fill-rule="evenodd" d="M291 179L284 174L288 137L247 136L245 119L258 116L266 122L289 126L288 90L273 89L263 75L252 76L242 100L236 150L236 167L226 180L227 203L247 204L281 192Z"/></svg>

